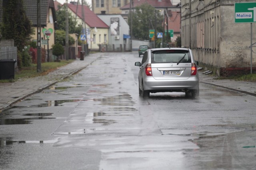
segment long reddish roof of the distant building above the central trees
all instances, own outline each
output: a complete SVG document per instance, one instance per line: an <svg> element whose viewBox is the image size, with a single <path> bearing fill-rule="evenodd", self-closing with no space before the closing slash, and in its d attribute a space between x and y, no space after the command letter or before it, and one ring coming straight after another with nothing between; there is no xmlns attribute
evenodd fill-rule
<svg viewBox="0 0 256 170"><path fill-rule="evenodd" d="M133 0L133 7L140 6L144 3L150 4L154 8L169 8L172 7L170 0ZM120 10L126 10L130 8L130 3L122 6Z"/></svg>

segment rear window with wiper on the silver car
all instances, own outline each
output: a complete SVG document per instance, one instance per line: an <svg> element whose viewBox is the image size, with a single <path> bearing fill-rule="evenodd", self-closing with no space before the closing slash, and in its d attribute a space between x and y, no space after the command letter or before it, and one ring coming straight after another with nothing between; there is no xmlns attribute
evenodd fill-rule
<svg viewBox="0 0 256 170"><path fill-rule="evenodd" d="M178 62L191 63L191 56L189 51L159 50L159 51L153 51L151 53L151 63L178 63Z"/></svg>

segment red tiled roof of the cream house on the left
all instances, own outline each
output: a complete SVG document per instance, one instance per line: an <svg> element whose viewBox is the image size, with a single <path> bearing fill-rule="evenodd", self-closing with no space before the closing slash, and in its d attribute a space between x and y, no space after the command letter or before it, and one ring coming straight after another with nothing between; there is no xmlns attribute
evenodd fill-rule
<svg viewBox="0 0 256 170"><path fill-rule="evenodd" d="M68 4L68 8L72 10L72 12L76 13L77 5ZM83 8L84 8L84 20L87 25L89 25L90 27L97 27L97 28L109 28L109 26L106 23L104 23L102 20L100 20L100 18L96 14L94 14L94 12L90 10L90 8L88 8L86 5L83 5ZM83 18L82 5L78 5L77 16L79 18Z"/></svg>

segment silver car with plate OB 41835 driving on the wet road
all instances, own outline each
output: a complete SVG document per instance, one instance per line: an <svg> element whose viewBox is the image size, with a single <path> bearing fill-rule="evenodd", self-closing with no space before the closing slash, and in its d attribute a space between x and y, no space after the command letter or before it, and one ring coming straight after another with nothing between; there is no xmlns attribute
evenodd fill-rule
<svg viewBox="0 0 256 170"><path fill-rule="evenodd" d="M136 62L139 71L139 94L184 92L192 98L199 96L198 62L186 48L148 49L142 62Z"/></svg>

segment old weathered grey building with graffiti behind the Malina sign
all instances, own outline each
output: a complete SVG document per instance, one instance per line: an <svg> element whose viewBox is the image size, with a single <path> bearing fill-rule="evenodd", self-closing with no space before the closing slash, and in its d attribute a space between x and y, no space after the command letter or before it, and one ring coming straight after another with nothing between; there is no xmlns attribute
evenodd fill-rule
<svg viewBox="0 0 256 170"><path fill-rule="evenodd" d="M250 23L234 22L235 2L181 0L182 46L192 49L204 70L218 76L256 72L255 51L250 55L250 39L255 40L256 34L251 35ZM243 2L254 1L239 1Z"/></svg>

